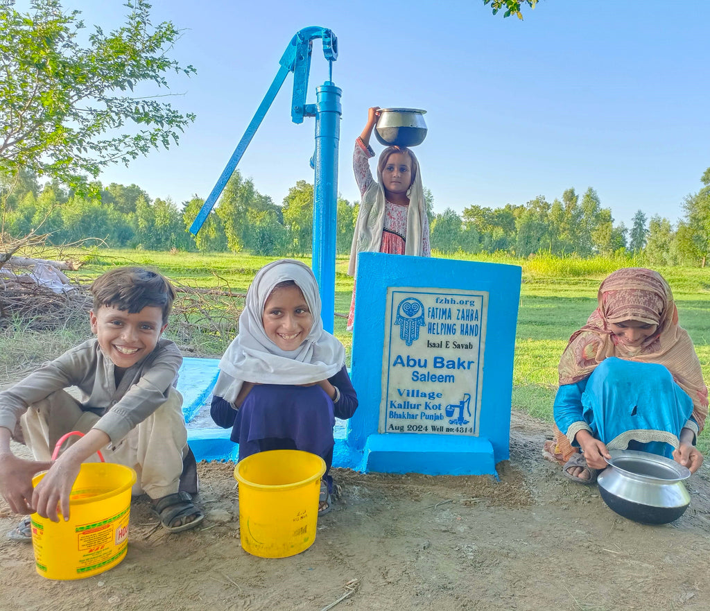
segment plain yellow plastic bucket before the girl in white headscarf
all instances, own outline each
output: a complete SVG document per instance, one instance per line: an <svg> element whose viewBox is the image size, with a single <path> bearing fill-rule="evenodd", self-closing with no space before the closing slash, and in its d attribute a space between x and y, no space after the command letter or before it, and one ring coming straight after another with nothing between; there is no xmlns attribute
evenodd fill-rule
<svg viewBox="0 0 710 611"><path fill-rule="evenodd" d="M325 461L300 450L247 456L234 469L239 482L239 530L244 550L286 558L315 541Z"/></svg>

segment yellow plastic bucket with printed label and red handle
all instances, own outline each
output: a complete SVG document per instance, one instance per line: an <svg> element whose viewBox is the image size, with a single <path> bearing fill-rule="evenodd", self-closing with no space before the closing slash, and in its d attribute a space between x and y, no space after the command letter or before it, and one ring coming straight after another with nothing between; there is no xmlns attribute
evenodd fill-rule
<svg viewBox="0 0 710 611"><path fill-rule="evenodd" d="M33 485L44 473L33 477ZM113 463L84 463L72 487L69 520L32 514L37 572L49 579L103 573L126 556L131 487L136 472Z"/></svg>

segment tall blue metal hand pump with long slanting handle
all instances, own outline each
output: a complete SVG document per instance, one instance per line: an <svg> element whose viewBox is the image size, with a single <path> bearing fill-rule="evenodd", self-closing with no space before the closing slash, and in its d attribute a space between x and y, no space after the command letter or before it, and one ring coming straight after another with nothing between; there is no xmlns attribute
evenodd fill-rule
<svg viewBox="0 0 710 611"><path fill-rule="evenodd" d="M308 73L313 40L320 38L323 54L329 63L329 80L316 87L316 103L306 104ZM315 117L315 168L313 195L313 248L311 267L320 287L322 301L321 316L325 330L333 331L335 317L335 234L337 222L338 196L338 144L340 139L340 95L333 78L333 62L338 58L338 40L327 28L312 26L298 31L283 53L280 68L268 88L256 114L254 114L244 136L241 136L234 153L217 179L212 192L197 213L190 226L190 232L197 235L207 220L209 212L234 173L246 147L249 146L256 130L261 125L266 112L278 94L289 72L293 72L293 97L291 99L291 120L302 123L303 117Z"/></svg>

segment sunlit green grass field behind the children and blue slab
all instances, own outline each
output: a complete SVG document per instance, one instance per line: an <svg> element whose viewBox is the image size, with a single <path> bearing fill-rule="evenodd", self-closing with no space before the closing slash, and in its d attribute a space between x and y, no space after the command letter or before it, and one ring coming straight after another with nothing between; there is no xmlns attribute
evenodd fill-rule
<svg viewBox="0 0 710 611"><path fill-rule="evenodd" d="M233 292L245 292L256 271L274 259L243 254L125 250L77 251L74 256L85 261L82 269L72 274L82 281L90 281L112 266L139 264L154 266L178 286ZM310 257L301 260L310 264ZM596 292L603 278L623 266L643 266L643 261L628 257L513 259L498 255L481 256L476 260L515 264L523 269L513 367L513 408L552 421L557 362L569 335L596 307ZM336 262L335 311L342 314L349 310L353 283L346 269L347 258L340 256ZM658 271L672 287L680 323L692 337L704 378L706 382L710 381L710 273L706 269L678 267ZM227 301L229 308L225 308ZM206 297L197 308L185 308L181 317L183 322L195 322L195 328L200 327L200 320L205 316L212 317L219 322L217 328L213 325L206 332L203 327L203 332L186 333L185 325L175 321L170 326L170 337L182 347L192 346L198 356L219 355L234 337L235 319L242 303L240 298ZM214 313L219 313L222 318ZM349 354L351 334L345 330L344 318L337 317L334 326L335 335ZM2 344L0 339L0 354ZM7 367L7 363L0 361L0 372ZM700 445L704 451L710 448L710 433L701 436Z"/></svg>

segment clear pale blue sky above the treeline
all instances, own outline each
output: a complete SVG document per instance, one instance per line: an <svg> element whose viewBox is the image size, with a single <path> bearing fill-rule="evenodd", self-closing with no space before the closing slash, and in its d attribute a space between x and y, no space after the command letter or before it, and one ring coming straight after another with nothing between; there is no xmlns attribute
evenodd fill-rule
<svg viewBox="0 0 710 611"><path fill-rule="evenodd" d="M121 0L63 4L105 30L125 11ZM524 15L493 16L482 0L154 0L154 21L185 28L171 55L197 75L171 80L180 94L173 104L197 121L178 148L101 180L175 202L206 198L290 38L323 26L339 42L333 80L343 91L339 192L347 200L359 198L351 154L368 107L413 107L427 110L429 133L416 153L436 212L537 195L552 202L591 186L616 223L629 227L639 209L676 222L710 166L707 4L540 0ZM309 102L326 79L317 42ZM239 164L277 203L297 180L313 180L315 121L290 121L292 82Z"/></svg>

